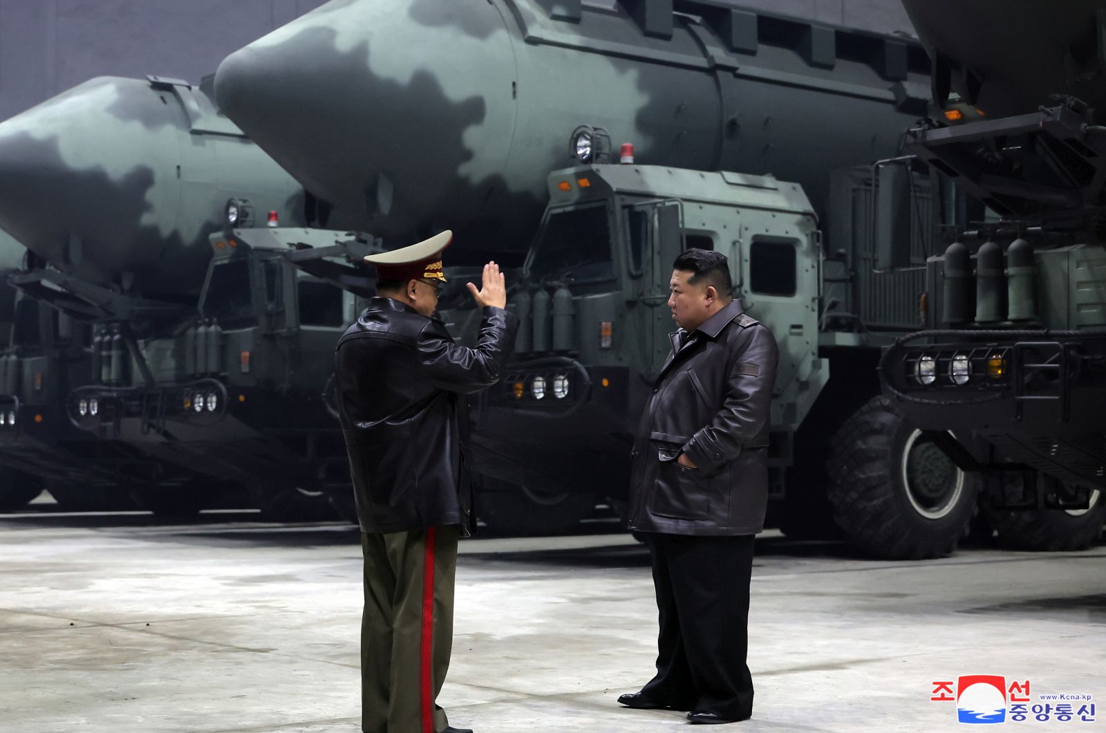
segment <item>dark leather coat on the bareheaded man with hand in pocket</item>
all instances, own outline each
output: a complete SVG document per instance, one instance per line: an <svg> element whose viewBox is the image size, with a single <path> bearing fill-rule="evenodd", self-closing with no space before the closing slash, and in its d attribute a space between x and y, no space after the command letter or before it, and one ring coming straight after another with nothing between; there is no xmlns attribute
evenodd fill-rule
<svg viewBox="0 0 1106 733"><path fill-rule="evenodd" d="M691 333L671 338L674 353L634 441L629 526L677 535L757 534L768 508L775 338L742 313L737 299ZM680 466L681 452L698 467Z"/></svg>

